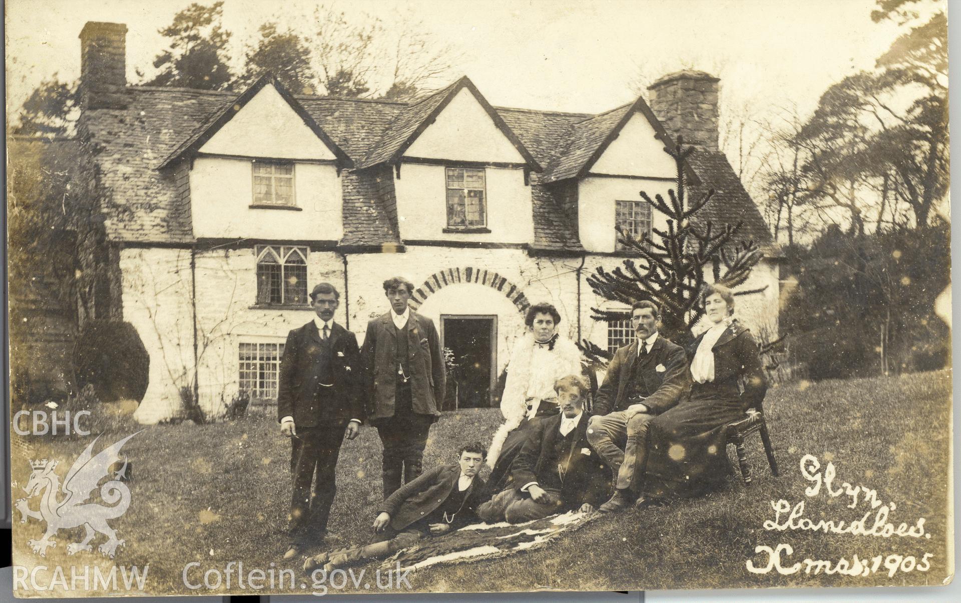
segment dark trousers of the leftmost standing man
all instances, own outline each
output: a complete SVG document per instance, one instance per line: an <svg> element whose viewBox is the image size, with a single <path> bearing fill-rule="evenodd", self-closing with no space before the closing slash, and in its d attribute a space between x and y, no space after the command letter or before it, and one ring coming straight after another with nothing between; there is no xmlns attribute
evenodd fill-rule
<svg viewBox="0 0 961 603"><path fill-rule="evenodd" d="M305 545L323 537L337 493L336 466L347 419L335 419L316 427L297 427L290 439L290 540ZM313 482L313 491L310 482Z"/></svg>

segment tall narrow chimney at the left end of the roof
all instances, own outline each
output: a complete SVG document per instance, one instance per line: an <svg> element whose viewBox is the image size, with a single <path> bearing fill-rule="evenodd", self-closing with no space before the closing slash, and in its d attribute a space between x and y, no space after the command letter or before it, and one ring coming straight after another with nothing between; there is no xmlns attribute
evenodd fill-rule
<svg viewBox="0 0 961 603"><path fill-rule="evenodd" d="M80 85L87 109L126 107L126 25L86 22L80 32Z"/></svg>

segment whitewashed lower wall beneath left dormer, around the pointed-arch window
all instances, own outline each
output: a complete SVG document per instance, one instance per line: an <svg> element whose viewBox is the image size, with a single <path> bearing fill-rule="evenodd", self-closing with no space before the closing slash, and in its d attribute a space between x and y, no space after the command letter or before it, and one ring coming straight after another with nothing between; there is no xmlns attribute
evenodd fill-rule
<svg viewBox="0 0 961 603"><path fill-rule="evenodd" d="M136 328L150 355L147 392L135 417L156 423L181 407L179 389L191 387L193 312L190 252L136 249L120 252L124 320ZM340 258L308 254L308 290L329 281L343 291ZM199 252L196 259L199 402L208 416L222 415L238 389L238 343L283 342L313 311L254 308L257 300L253 249ZM343 321L343 314L337 319Z"/></svg>

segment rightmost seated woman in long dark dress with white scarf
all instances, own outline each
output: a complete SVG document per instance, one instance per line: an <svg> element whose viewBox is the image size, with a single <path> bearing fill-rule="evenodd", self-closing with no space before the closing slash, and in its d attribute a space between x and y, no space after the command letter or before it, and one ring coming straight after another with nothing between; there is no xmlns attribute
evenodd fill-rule
<svg viewBox="0 0 961 603"><path fill-rule="evenodd" d="M731 290L708 286L703 299L711 326L687 348L690 398L649 423L642 490L649 500L695 496L723 478L725 426L759 405L767 391L757 343L733 316Z"/></svg>

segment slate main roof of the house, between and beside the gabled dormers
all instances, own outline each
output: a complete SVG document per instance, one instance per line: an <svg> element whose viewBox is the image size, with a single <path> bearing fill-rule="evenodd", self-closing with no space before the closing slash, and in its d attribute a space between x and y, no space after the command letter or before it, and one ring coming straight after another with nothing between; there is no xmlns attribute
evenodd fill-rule
<svg viewBox="0 0 961 603"><path fill-rule="evenodd" d="M345 172L342 179L342 244L403 242L398 237L393 182L385 162L406 148L411 135L426 127L428 117L465 85L463 79L458 80L411 103L293 96L357 166ZM191 144L231 109L238 96L232 92L135 86L125 88L123 96L125 109L86 111L80 124L81 134L89 136L94 149L108 237L140 243L193 242L189 197L183 194L184 186L178 187L176 162L164 168L161 165L184 156ZM515 146L524 149L531 164L543 169L531 174L532 248L583 250L577 219L567 205L565 182L582 175L592 154L605 139L609 141L619 123L623 125L631 107L637 107L637 102L597 115L491 108ZM646 105L642 109L650 112ZM724 155L698 151L690 163L703 182L719 190L705 212L710 210L715 219L727 222L744 220L740 238L770 243L771 235L760 213Z"/></svg>

